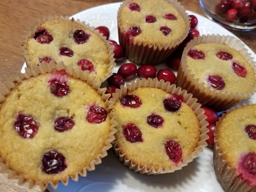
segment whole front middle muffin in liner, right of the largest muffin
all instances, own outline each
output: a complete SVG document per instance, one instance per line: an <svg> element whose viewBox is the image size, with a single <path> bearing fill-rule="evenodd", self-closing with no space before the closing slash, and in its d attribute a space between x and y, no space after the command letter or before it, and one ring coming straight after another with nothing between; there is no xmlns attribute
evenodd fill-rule
<svg viewBox="0 0 256 192"><path fill-rule="evenodd" d="M139 173L173 172L207 146L207 122L191 94L157 79L127 87L113 94L115 151L124 165Z"/></svg>

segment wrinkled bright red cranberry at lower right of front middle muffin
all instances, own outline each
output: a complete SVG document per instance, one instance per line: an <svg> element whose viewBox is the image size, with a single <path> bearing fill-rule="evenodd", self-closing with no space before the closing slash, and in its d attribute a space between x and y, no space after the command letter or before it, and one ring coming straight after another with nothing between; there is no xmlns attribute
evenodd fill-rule
<svg viewBox="0 0 256 192"><path fill-rule="evenodd" d="M166 141L164 146L166 154L175 165L177 165L180 161L182 162L182 149L177 141Z"/></svg>

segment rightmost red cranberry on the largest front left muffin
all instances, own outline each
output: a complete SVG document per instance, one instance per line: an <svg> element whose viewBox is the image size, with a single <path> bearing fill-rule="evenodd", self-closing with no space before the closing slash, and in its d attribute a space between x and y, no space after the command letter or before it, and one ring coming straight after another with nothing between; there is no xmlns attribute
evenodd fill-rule
<svg viewBox="0 0 256 192"><path fill-rule="evenodd" d="M108 112L103 107L93 105L86 116L89 123L101 123L107 119Z"/></svg>

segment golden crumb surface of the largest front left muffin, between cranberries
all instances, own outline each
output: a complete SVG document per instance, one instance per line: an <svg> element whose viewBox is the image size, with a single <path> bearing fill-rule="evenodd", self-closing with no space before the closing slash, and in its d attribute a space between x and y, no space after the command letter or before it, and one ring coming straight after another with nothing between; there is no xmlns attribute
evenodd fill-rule
<svg viewBox="0 0 256 192"><path fill-rule="evenodd" d="M65 81L70 92L57 97L49 86L54 76L45 74L23 80L12 89L0 109L0 156L25 179L44 184L66 181L67 176L83 172L101 153L110 133L108 116L98 124L87 121L90 106L106 109L101 95L87 83L67 76ZM24 138L15 130L20 114L30 115L37 122L38 130L33 138ZM63 132L56 131L55 121L60 117L71 118L74 126ZM24 125L24 121L21 124ZM51 150L65 157L66 168L57 174L42 170L43 155Z"/></svg>

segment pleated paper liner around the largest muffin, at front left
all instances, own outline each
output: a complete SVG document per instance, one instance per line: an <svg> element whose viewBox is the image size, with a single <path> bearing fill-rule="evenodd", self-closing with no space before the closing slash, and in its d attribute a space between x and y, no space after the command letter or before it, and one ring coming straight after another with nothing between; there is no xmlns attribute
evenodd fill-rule
<svg viewBox="0 0 256 192"><path fill-rule="evenodd" d="M86 81L89 85L91 85L95 90L97 90L98 94L102 95L101 98L105 101L105 105L107 107L108 116L110 117L110 133L108 135L108 139L105 142L105 146L102 148L101 153L96 156L96 158L90 163L90 166L81 168L81 171L76 172L74 175L67 175L65 180L59 180L59 182L63 182L64 185L68 184L69 177L74 180L78 181L78 177L80 176L86 176L87 171L92 171L95 169L95 165L101 163L101 159L105 156L107 156L107 150L112 147L111 142L115 139L115 132L117 131L115 129L115 126L117 125L117 122L115 121L116 114L112 112L112 109L114 109L114 102L109 101L108 97L109 95L104 94L106 91L106 88L100 88L101 83L98 81L95 81L95 77L88 76L88 73L81 70L81 66L78 68L73 68L72 64L65 65L63 62L60 62L58 64L55 64L54 61L51 61L49 64L47 64L45 61L41 63L40 66L33 66L32 68L25 68L25 73L18 73L17 77L12 78L11 82L6 83L6 87L0 90L0 107L2 106L2 102L5 101L8 94L11 92L11 89L13 89L15 84L20 83L24 79L28 79L32 76L37 76L39 74L46 74L50 73L52 69L56 70L62 70L64 69L66 73L72 75L75 78L79 78L83 81ZM32 179L25 179L24 175L18 174L15 170L11 169L7 163L5 163L4 159L0 157L0 172L1 173L8 173L8 179L18 179L18 184L28 184L28 188L33 188L36 185L39 185L40 188L43 190L46 189L48 184L51 184L53 188L57 188L58 182L49 182L49 183L43 183L42 181L34 181Z"/></svg>

